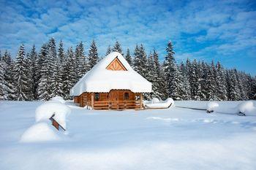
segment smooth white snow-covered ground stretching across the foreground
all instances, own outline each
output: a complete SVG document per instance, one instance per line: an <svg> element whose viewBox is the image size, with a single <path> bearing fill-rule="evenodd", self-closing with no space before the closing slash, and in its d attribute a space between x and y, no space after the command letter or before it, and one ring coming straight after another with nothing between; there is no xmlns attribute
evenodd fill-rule
<svg viewBox="0 0 256 170"><path fill-rule="evenodd" d="M256 167L256 113L243 117L180 108L206 109L206 103L198 101L143 111L94 111L69 102L72 112L66 134L56 132L59 140L20 142L35 124L35 109L40 104L0 101L0 169Z"/></svg>

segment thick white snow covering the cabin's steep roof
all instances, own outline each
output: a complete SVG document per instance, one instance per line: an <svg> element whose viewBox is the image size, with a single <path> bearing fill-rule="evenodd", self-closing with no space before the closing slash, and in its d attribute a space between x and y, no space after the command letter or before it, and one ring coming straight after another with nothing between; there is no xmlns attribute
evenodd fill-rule
<svg viewBox="0 0 256 170"><path fill-rule="evenodd" d="M118 58L127 71L106 69ZM110 53L87 72L70 90L70 96L83 92L108 93L112 89L131 90L134 93L151 93L152 84L135 72L124 57L117 52Z"/></svg>

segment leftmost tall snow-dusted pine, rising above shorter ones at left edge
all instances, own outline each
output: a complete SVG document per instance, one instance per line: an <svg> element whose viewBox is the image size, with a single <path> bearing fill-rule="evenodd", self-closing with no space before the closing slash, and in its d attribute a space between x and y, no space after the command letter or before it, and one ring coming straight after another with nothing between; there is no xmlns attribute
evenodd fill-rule
<svg viewBox="0 0 256 170"><path fill-rule="evenodd" d="M18 55L15 63L15 81L16 81L16 93L17 100L27 100L26 90L28 88L26 79L26 62L25 62L25 50L24 45L20 45Z"/></svg>

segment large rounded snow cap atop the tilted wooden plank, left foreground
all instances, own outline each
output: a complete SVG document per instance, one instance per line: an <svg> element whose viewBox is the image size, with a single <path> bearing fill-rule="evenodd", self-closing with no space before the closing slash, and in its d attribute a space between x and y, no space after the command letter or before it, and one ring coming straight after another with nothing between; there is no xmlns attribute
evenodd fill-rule
<svg viewBox="0 0 256 170"><path fill-rule="evenodd" d="M52 115L54 119L66 129L66 117L71 112L67 105L59 101L47 101L36 109L36 122L48 120Z"/></svg>

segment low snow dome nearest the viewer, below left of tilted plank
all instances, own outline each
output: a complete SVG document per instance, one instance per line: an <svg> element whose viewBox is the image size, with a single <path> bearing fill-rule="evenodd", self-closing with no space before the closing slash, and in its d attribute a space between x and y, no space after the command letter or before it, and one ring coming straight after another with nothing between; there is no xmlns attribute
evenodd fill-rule
<svg viewBox="0 0 256 170"><path fill-rule="evenodd" d="M59 140L59 136L47 123L37 123L28 128L20 138L20 142L47 142Z"/></svg>

